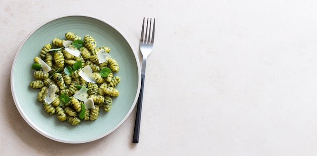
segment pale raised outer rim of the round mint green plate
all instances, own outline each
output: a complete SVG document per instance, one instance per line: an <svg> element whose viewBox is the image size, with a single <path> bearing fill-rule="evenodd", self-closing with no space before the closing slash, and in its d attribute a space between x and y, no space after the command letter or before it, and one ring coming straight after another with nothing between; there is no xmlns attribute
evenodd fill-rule
<svg viewBox="0 0 317 156"><path fill-rule="evenodd" d="M46 25L47 23L50 23L54 20L58 20L58 19L61 19L61 18L67 18L67 17L73 17L73 16L76 16L76 17L86 17L86 18L92 18L92 19L95 19L95 20L98 20L98 21L101 21L107 25L109 25L110 27L112 27L113 29L115 29L118 33L120 33L123 38L127 41L127 43L129 44L133 54L134 54L134 59L136 61L136 64L137 64L137 71L138 71L138 85L137 85L137 92L136 92L136 95L135 95L135 98L134 98L134 101L132 103L132 106L130 108L130 110L128 111L128 113L125 115L125 117L122 119L122 121L120 121L119 123L117 123L112 129L110 129L109 131L107 131L106 133L102 134L102 135L99 135L97 137L94 137L94 138L90 138L90 139L85 139L85 140L80 140L80 141L70 141L70 140L62 140L62 139L57 139L53 136L50 136L48 135L46 132L43 132L41 130L39 130L37 128L36 125L32 124L32 122L28 119L28 117L24 114L23 110L21 109L21 106L19 105L19 101L16 97L16 94L15 94L15 88L14 88L14 81L13 81L13 75L14 75L14 68L15 68L15 64L16 64L16 60L17 60L17 57L18 55L20 54L20 51L21 51L21 48L23 47L23 45L25 44L25 42L28 40L28 38L36 31L38 30L39 28L43 27L44 25ZM11 67L11 74L10 74L10 87L11 87L11 94L12 94L12 97L13 97L13 100L14 100L14 103L15 103L15 106L17 107L17 110L19 112L19 114L22 116L22 118L24 119L24 121L30 126L32 127L36 132L38 132L39 134L51 139L51 140L55 140L55 141L58 141L58 142L63 142L63 143L71 143L71 144L78 144L78 143L87 143L87 142L92 142L92 141L95 141L95 140L98 140L100 138L103 138L105 136L107 136L108 134L112 133L114 130L116 130L118 127L120 127L126 120L127 118L131 115L132 111L134 110L134 108L136 107L136 103L137 103L137 100L138 100L138 97L139 97L139 94L140 94L140 89L141 89L141 65L140 65L140 62L139 62L139 58L138 58L138 55L136 53L136 50L135 48L133 47L131 41L129 40L129 38L120 30L118 29L115 25L113 25L112 23L108 22L107 20L104 20L102 18L99 18L99 17L96 17L96 16L92 16L92 15L85 15L85 14L65 14L65 15L60 15L60 16L57 16L57 17L53 17L41 24L39 24L38 26L36 26L26 37L25 39L22 41L22 43L20 44L18 50L17 50L17 53L15 54L15 57L14 57L14 60L13 60L13 63L12 63L12 67Z"/></svg>

